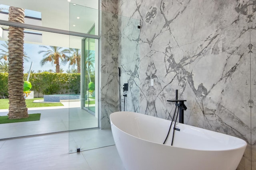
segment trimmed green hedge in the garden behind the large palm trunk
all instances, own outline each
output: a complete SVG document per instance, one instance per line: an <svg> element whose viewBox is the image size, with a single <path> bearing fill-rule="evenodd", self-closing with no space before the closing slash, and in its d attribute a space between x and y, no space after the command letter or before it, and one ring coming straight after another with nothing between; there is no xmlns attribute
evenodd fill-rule
<svg viewBox="0 0 256 170"><path fill-rule="evenodd" d="M24 81L27 77L28 74L24 74ZM94 75L90 78L94 82ZM80 73L33 73L29 81L31 90L42 94L80 94ZM8 96L8 73L0 73L0 95Z"/></svg>

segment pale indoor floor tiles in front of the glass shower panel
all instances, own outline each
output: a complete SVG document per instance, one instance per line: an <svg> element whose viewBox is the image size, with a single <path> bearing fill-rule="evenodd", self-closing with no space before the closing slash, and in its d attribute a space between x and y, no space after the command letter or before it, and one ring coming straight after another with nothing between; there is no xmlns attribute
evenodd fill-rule
<svg viewBox="0 0 256 170"><path fill-rule="evenodd" d="M1 170L124 170L115 145L68 154L69 133L0 141Z"/></svg>

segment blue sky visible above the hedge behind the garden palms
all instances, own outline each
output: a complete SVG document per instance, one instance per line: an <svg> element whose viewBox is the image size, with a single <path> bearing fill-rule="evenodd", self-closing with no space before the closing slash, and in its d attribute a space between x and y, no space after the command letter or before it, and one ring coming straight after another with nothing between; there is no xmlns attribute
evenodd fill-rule
<svg viewBox="0 0 256 170"><path fill-rule="evenodd" d="M0 41L0 44L4 43L4 41ZM2 46L0 45L0 48ZM40 61L43 59L43 53L38 54L38 51L45 50L44 48L40 47L40 45L37 44L30 44L30 43L24 43L24 52L26 52L27 56L30 58L28 59L29 61L24 61L24 73L27 73L30 69L31 62L32 64L32 70L34 72L37 72L38 70L44 71L44 70L56 70L56 65L51 64L50 62L47 62L43 66L41 66ZM4 61L3 59L1 60L2 62ZM66 70L69 69L69 64L67 63L65 66L60 64L60 68L66 72ZM70 68L71 69L71 68Z"/></svg>

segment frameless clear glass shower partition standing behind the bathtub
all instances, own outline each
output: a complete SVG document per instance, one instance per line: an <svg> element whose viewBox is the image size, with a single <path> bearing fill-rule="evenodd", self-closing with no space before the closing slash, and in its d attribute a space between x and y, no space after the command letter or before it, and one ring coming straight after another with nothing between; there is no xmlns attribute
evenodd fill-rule
<svg viewBox="0 0 256 170"><path fill-rule="evenodd" d="M74 94L72 91L72 89L74 89L74 82L72 82L73 84L71 83L72 78L74 79L75 77L77 79L75 84L76 86L80 87L80 89L77 90L77 94L80 96L79 102L73 102L72 100L69 102L70 153L114 145L114 140L110 129L110 122L104 122L104 119L101 119L105 116L104 114L106 114L103 113L104 111L101 111L102 103L105 101L101 101L99 99L101 92L99 89L99 82L102 81L99 78L100 70L102 69L102 65L106 64L106 59L112 62L112 59L115 58L116 61L118 61L115 64L116 68L118 67L118 63L122 63L120 66L122 65L123 68L127 68L128 70L135 69L137 67L139 68L139 30L137 28L139 20L126 18L123 16L116 16L110 13L102 13L101 35L104 37L102 39L107 39L107 41L109 40L108 43L114 43L116 48L119 49L116 51L105 51L105 47L107 47L109 44L100 45L100 39L98 38L99 14L100 12L96 9L70 3L70 31L76 31L83 34L83 36L70 36L70 56L73 56L72 51L75 51L71 49L80 49L81 59L80 73L70 73L70 96ZM84 18L82 18L82 16ZM109 27L112 25L110 20L115 20L114 29L119 29L119 31L115 31ZM136 25L135 31L130 30L131 25ZM112 39L116 36L120 38ZM100 52L104 53L104 57L101 58ZM120 57L122 55L123 57ZM124 59L126 57L130 57L130 59ZM133 63L131 64L130 61L133 61ZM101 67L98 66L98 63L101 63ZM74 67L74 64L71 64L70 60L70 70L76 67L76 65ZM114 69L109 71L114 72ZM130 92L136 92L135 101L139 101L139 92L137 90L137 85L139 85L138 74L139 72L136 73L136 76L131 77L130 74L127 74L126 71L123 70L123 79L121 80L127 82L129 79L128 81L130 81L131 84ZM134 78L134 81L132 78ZM135 82L137 84L136 86ZM119 98L118 94L110 97ZM135 111L132 109L134 108L135 101L129 98L127 109L130 111ZM116 105L118 104L119 102L116 101ZM136 103L136 108L138 108L137 105L138 103ZM109 110L118 111L116 108ZM109 127L102 127L102 124L109 124Z"/></svg>

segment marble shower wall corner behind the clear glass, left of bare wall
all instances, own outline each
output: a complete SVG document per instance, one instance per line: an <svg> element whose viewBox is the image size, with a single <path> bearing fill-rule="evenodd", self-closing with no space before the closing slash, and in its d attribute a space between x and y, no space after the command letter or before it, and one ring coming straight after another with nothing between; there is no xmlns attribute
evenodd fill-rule
<svg viewBox="0 0 256 170"><path fill-rule="evenodd" d="M101 128L110 128L115 111L139 112L140 20L117 15L117 2L102 1ZM121 70L119 79L118 67ZM119 86L120 80L120 86ZM128 83L126 101L123 84ZM119 90L121 102L119 98ZM125 106L124 106L125 102Z"/></svg>

